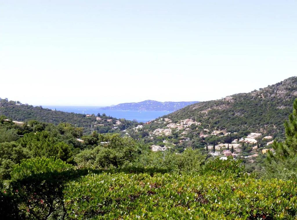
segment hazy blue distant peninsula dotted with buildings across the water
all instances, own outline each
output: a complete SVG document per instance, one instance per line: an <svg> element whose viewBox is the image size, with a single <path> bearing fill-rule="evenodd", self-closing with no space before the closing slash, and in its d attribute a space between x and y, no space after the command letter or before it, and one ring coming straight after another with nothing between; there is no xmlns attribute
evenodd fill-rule
<svg viewBox="0 0 297 220"><path fill-rule="evenodd" d="M188 105L197 103L193 102L158 102L154 100L145 100L143 102L121 103L115 106L102 107L100 110L132 110L132 111L176 111Z"/></svg>

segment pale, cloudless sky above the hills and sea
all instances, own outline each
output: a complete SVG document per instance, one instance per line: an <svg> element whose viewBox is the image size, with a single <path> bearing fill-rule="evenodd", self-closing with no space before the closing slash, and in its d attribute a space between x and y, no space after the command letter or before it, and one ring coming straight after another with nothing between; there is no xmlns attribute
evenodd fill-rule
<svg viewBox="0 0 297 220"><path fill-rule="evenodd" d="M297 1L2 1L0 97L207 101L296 76Z"/></svg>

